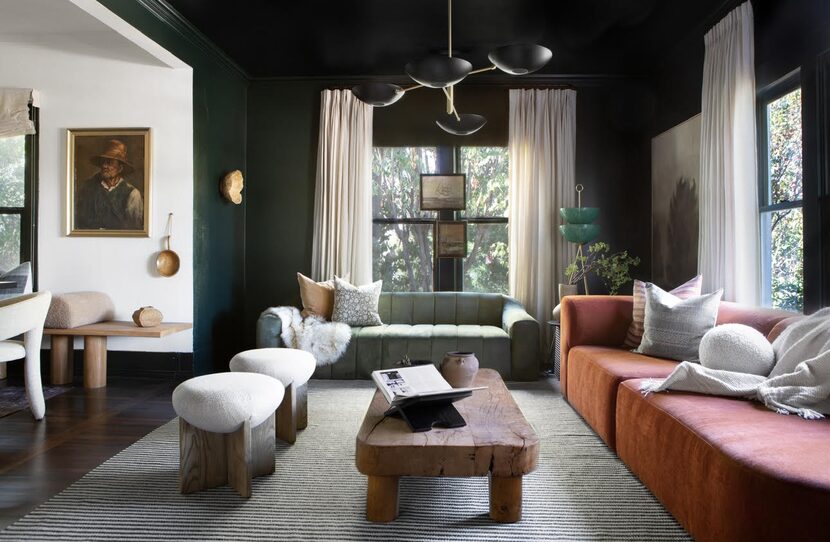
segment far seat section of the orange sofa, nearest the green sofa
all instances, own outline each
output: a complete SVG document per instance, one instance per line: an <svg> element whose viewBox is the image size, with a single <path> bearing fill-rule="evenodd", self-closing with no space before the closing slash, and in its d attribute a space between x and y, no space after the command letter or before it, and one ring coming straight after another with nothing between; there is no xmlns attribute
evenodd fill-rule
<svg viewBox="0 0 830 542"><path fill-rule="evenodd" d="M568 355L571 403L614 449L617 387L632 378L665 378L677 367L672 360L607 346L576 346Z"/></svg>

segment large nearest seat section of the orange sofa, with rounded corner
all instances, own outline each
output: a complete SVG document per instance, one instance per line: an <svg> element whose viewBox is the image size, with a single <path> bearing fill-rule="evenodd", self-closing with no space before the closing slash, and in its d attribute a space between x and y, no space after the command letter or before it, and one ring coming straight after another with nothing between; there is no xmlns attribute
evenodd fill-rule
<svg viewBox="0 0 830 542"><path fill-rule="evenodd" d="M616 451L696 540L821 540L830 420L693 393L617 395Z"/></svg>

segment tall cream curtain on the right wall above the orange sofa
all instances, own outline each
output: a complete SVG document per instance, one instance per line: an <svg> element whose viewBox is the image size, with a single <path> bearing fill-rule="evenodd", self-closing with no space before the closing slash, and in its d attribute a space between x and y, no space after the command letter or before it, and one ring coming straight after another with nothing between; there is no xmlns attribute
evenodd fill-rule
<svg viewBox="0 0 830 542"><path fill-rule="evenodd" d="M741 4L705 36L700 136L698 266L706 292L760 301L752 6Z"/></svg>

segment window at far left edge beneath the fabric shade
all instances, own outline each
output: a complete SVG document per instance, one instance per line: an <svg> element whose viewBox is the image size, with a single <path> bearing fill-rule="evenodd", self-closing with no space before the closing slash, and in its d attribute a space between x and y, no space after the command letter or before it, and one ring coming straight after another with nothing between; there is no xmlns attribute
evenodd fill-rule
<svg viewBox="0 0 830 542"><path fill-rule="evenodd" d="M0 270L31 261L33 277L36 146L36 135L0 138Z"/></svg>

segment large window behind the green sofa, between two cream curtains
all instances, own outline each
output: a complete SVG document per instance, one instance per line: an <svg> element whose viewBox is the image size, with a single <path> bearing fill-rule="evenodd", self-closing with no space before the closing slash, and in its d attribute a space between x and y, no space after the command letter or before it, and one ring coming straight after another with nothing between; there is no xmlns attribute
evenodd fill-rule
<svg viewBox="0 0 830 542"><path fill-rule="evenodd" d="M455 167L439 167L442 156ZM468 183L467 210L455 214L468 222L468 257L458 263L435 258L438 214L422 212L419 201L421 173L449 169ZM373 272L385 291L432 291L439 266L455 265L452 289L507 293L506 148L375 147L372 185Z"/></svg>

